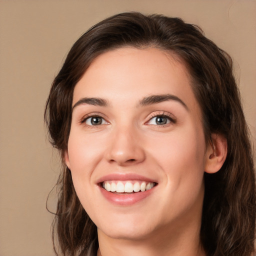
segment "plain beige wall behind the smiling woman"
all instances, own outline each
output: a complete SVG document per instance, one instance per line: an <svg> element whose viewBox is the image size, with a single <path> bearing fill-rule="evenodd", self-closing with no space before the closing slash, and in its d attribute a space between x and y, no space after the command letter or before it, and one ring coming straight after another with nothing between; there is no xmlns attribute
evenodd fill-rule
<svg viewBox="0 0 256 256"><path fill-rule="evenodd" d="M43 125L50 83L81 33L130 10L180 16L230 53L255 141L255 0L0 0L1 256L54 254L45 201L58 160Z"/></svg>

